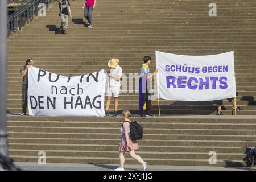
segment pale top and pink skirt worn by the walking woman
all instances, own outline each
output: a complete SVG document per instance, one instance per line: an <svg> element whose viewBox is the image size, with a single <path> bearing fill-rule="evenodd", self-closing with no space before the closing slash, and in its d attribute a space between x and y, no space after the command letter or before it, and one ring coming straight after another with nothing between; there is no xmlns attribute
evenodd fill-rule
<svg viewBox="0 0 256 182"><path fill-rule="evenodd" d="M129 128L130 128L130 124L129 124L128 129ZM129 136L129 138L132 142L130 142L130 147L127 147L126 138L125 138L125 130L123 129L123 127L121 127L120 131L122 133L122 138L121 138L121 141L119 143L119 152L130 152L132 150L138 150L139 145L138 145L137 141L136 140L131 140L130 136ZM130 129L129 129L129 132L130 132Z"/></svg>

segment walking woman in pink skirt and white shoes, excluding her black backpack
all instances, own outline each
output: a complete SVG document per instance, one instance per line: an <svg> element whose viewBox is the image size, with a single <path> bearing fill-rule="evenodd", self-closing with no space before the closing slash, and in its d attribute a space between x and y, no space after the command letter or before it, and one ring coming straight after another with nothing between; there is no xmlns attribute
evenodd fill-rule
<svg viewBox="0 0 256 182"><path fill-rule="evenodd" d="M122 133L121 142L119 143L119 164L120 167L115 169L115 171L125 171L125 152L129 152L131 158L137 160L139 163L142 164L143 170L147 169L147 164L142 160L142 158L135 154L135 150L139 149L139 145L136 140L131 140L129 133L130 133L130 119L131 116L129 110L122 111L122 127L120 129ZM127 122L126 122L127 121Z"/></svg>

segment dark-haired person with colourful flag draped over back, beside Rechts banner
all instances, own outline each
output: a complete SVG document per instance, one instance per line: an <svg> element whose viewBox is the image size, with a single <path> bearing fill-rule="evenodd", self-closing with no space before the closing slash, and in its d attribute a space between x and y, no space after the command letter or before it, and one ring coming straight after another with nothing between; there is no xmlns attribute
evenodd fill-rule
<svg viewBox="0 0 256 182"><path fill-rule="evenodd" d="M158 69L155 69L155 72L149 75L150 69L148 65L151 63L150 56L143 57L144 64L142 64L141 72L139 73L139 112L142 118L147 116L154 116L150 113L151 99L150 99L150 80L153 80L153 76L158 72ZM146 110L146 113L144 113Z"/></svg>

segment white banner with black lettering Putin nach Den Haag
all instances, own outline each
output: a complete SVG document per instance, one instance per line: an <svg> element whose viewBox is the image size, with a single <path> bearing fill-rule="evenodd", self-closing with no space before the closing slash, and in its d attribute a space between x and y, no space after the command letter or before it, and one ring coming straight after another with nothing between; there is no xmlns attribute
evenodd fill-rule
<svg viewBox="0 0 256 182"><path fill-rule="evenodd" d="M104 116L106 72L66 77L28 69L30 115Z"/></svg>

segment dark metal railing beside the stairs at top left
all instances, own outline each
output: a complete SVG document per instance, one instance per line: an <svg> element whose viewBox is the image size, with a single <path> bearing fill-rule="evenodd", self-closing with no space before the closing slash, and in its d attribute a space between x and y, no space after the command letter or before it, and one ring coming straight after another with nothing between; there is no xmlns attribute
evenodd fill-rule
<svg viewBox="0 0 256 182"><path fill-rule="evenodd" d="M18 24L21 19L33 19L34 15L38 12L37 7L39 3L44 3L46 5L46 9L49 8L49 3L55 0L31 0L26 3L22 7L20 7L13 14L8 17L8 31L9 35L11 31L18 31Z"/></svg>

